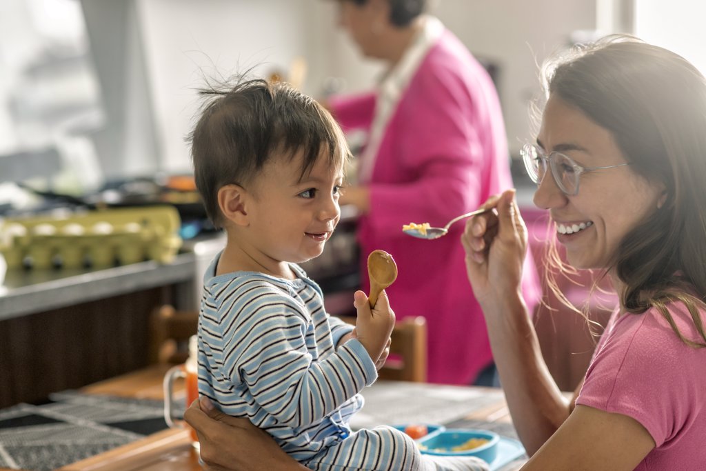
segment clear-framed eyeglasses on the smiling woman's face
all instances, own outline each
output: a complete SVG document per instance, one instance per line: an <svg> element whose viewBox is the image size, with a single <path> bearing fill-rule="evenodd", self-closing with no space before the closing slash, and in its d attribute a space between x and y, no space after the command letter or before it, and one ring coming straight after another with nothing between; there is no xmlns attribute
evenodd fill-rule
<svg viewBox="0 0 706 471"><path fill-rule="evenodd" d="M534 183L542 183L546 174L546 167L549 167L554 181L556 181L556 186L568 196L578 194L579 177L582 173L630 165L630 162L626 162L618 165L606 165L605 167L581 167L568 155L558 152L546 155L542 148L533 144L523 145L520 154L522 155L522 161L525 162L527 174L530 175L530 179Z"/></svg>

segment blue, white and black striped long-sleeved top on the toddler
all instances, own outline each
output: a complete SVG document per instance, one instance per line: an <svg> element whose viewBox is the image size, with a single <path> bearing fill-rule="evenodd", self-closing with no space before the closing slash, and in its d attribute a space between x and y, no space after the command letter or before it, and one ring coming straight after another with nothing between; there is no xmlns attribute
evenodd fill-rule
<svg viewBox="0 0 706 471"><path fill-rule="evenodd" d="M352 330L329 316L304 270L296 280L263 273L204 277L198 325L199 390L228 415L248 417L293 458L306 461L345 439L359 391L377 377Z"/></svg>

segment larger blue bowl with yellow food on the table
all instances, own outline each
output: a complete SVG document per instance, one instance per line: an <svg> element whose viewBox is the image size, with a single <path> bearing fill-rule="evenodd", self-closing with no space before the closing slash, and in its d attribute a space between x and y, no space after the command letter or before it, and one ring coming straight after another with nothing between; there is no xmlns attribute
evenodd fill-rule
<svg viewBox="0 0 706 471"><path fill-rule="evenodd" d="M468 450L453 451L454 447L463 446L471 439L484 439L486 443ZM447 429L423 436L417 443L421 453L426 455L475 456L492 463L498 455L500 436L487 430Z"/></svg>

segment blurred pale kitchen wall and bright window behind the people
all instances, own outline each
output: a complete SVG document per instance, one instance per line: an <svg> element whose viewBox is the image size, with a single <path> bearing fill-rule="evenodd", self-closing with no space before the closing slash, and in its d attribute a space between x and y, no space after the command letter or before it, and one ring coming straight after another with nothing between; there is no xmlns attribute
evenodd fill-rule
<svg viewBox="0 0 706 471"><path fill-rule="evenodd" d="M335 3L3 0L0 203L4 180L51 177L55 188L80 193L110 178L191 172L184 137L205 78L294 69L314 97L368 88L381 68L337 28ZM539 95L537 64L551 52L582 37L635 32L706 66L698 46L706 35L702 9L688 0L431 5L471 52L495 66L513 156L532 136L527 110ZM51 154L54 162L30 170L13 160L28 152Z"/></svg>

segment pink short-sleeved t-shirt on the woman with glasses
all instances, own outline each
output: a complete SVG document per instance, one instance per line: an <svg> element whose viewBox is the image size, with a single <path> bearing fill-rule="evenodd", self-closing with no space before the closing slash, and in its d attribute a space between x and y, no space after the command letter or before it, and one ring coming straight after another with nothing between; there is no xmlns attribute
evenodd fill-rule
<svg viewBox="0 0 706 471"><path fill-rule="evenodd" d="M668 309L698 340L686 307ZM650 432L657 446L636 470L706 470L706 348L683 343L657 309L611 316L576 403L627 415Z"/></svg>

